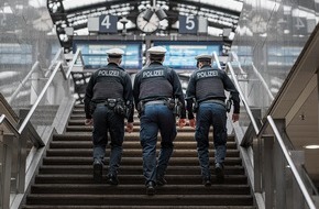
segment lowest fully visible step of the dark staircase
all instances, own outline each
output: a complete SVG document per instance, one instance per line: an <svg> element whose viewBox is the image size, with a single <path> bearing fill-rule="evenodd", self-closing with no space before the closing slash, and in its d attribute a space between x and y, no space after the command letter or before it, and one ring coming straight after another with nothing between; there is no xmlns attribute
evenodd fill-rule
<svg viewBox="0 0 319 209"><path fill-rule="evenodd" d="M108 205L132 206L139 202L140 206L188 206L196 202L197 206L249 206L253 204L250 195L155 195L150 198L146 195L30 195L26 204L31 205Z"/></svg>

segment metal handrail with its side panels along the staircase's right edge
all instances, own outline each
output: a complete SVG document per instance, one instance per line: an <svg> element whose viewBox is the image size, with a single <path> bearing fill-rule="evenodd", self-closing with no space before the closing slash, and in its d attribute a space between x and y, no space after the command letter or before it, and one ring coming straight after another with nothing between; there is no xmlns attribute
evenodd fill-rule
<svg viewBox="0 0 319 209"><path fill-rule="evenodd" d="M242 128L234 128L234 131L239 132L238 141L243 145L240 150L258 208L315 209L319 207L315 204L315 200L318 200L318 191L302 167L304 153L287 150L282 139L282 135L285 135L282 121L274 122L272 117L267 116L263 124L256 122L246 95L242 91L243 85L240 85L232 64L228 62L227 67L239 89L250 120L251 129L244 130L244 135ZM255 68L254 72L258 74ZM267 88L266 85L264 87ZM272 94L270 97L273 99Z"/></svg>

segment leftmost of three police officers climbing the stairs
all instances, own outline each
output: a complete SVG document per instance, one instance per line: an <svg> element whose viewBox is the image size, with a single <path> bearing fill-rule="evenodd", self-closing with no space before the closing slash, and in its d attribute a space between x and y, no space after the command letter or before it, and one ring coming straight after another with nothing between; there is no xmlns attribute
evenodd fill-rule
<svg viewBox="0 0 319 209"><path fill-rule="evenodd" d="M118 185L118 168L122 156L124 117L127 131L133 130L133 91L129 74L119 65L124 52L121 48L107 51L108 65L95 72L85 95L86 125L94 124L94 180L102 182L102 167L110 133L110 161L107 183Z"/></svg>

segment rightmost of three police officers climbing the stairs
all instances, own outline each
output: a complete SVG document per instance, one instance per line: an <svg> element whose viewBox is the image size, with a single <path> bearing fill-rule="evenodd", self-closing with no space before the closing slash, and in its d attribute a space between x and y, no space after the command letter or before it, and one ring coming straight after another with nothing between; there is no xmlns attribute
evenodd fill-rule
<svg viewBox="0 0 319 209"><path fill-rule="evenodd" d="M195 70L186 90L189 125L195 128L197 152L201 168L202 183L211 185L209 166L209 129L213 127L213 144L216 148L215 170L217 182L223 183L223 163L227 152L227 108L224 90L230 91L233 101L232 120L239 120L240 98L233 82L224 70L211 67L211 55L202 54L197 57L198 70ZM193 102L196 102L196 119L194 117Z"/></svg>

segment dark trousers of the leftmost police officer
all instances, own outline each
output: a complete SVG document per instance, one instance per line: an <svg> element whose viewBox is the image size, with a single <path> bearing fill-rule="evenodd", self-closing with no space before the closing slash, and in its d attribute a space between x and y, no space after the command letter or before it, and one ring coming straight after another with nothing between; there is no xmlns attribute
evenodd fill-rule
<svg viewBox="0 0 319 209"><path fill-rule="evenodd" d="M111 140L109 174L117 175L121 163L122 144L124 139L124 117L114 113L105 103L98 103L94 118L94 160L103 162L108 144L108 131Z"/></svg>

